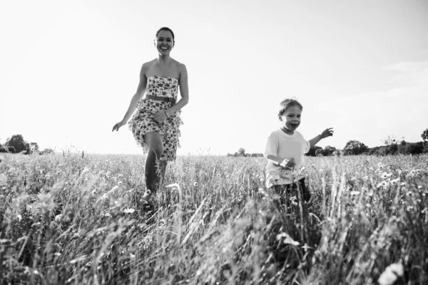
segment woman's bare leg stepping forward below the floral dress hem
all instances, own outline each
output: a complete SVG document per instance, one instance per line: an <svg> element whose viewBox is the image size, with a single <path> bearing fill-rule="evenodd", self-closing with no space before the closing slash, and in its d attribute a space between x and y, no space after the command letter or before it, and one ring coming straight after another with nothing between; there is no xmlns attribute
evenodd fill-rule
<svg viewBox="0 0 428 285"><path fill-rule="evenodd" d="M158 164L160 164L159 166L161 166L161 169L163 166L163 162L159 160L163 153L163 143L161 135L159 135L158 132L146 133L146 135L144 135L144 142L148 145L146 170L144 173L146 177L146 187L154 193L158 190L158 182L160 182L158 179Z"/></svg>

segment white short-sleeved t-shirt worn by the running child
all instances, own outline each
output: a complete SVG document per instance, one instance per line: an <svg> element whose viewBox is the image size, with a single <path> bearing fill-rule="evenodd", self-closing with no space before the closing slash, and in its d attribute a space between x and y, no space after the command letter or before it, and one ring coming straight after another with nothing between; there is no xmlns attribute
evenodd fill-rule
<svg viewBox="0 0 428 285"><path fill-rule="evenodd" d="M299 177L297 173L303 166L303 154L309 152L309 150L310 142L305 140L297 130L292 135L287 135L282 130L272 132L267 139L265 157L267 155L275 155L280 158L294 158L296 165L293 172L291 170L283 170L282 167L267 161L266 186L290 184L292 183L292 177L295 177L295 180L301 179L302 177Z"/></svg>

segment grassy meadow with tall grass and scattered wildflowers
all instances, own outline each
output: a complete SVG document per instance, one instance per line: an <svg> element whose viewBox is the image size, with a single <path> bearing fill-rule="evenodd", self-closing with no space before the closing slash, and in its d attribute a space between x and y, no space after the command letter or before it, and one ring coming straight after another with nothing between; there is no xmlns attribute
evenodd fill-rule
<svg viewBox="0 0 428 285"><path fill-rule="evenodd" d="M141 156L1 160L0 284L428 284L427 155L307 157L287 208L263 158L179 157L151 212Z"/></svg>

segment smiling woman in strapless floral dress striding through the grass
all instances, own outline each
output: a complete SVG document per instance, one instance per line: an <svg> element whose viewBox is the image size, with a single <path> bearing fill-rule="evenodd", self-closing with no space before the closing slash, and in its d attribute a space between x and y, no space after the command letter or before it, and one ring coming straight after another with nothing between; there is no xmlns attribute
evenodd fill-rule
<svg viewBox="0 0 428 285"><path fill-rule="evenodd" d="M137 110L128 126L147 154L145 202L150 202L158 190L167 162L175 160L179 147L179 126L183 124L178 111L189 100L187 69L183 63L170 57L174 43L174 33L170 28L163 27L156 32L158 58L143 63L136 94L123 120L113 126L113 131L119 130ZM176 102L178 88L181 98ZM143 98L145 93L146 97Z"/></svg>

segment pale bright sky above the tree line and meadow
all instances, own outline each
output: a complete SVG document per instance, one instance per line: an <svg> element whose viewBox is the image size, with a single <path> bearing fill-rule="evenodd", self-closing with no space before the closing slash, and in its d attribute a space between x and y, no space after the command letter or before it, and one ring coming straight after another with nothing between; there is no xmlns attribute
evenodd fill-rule
<svg viewBox="0 0 428 285"><path fill-rule="evenodd" d="M158 28L188 70L178 155L264 152L277 106L300 133L369 147L428 128L428 1L3 1L0 142L138 154L125 115Z"/></svg>

